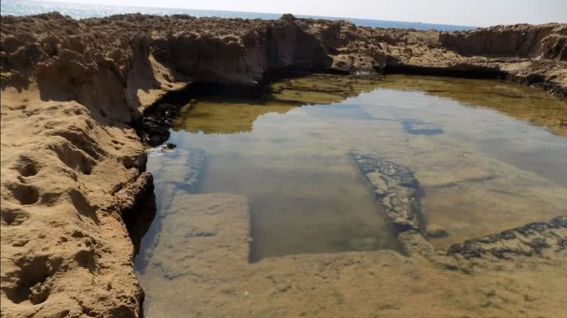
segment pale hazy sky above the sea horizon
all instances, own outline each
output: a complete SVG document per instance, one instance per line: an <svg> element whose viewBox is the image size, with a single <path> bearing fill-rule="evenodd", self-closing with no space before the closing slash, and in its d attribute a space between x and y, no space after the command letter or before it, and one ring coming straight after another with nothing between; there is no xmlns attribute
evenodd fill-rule
<svg viewBox="0 0 567 318"><path fill-rule="evenodd" d="M50 0L52 1L52 0ZM488 26L510 23L567 23L567 0L57 0L409 22Z"/></svg>

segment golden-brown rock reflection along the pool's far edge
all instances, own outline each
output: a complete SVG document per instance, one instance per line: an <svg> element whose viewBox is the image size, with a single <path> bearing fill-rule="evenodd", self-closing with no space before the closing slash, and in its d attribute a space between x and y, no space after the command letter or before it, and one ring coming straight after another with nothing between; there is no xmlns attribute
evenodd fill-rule
<svg viewBox="0 0 567 318"><path fill-rule="evenodd" d="M206 134L250 131L254 120L262 114L283 114L293 107L342 102L376 88L417 90L450 98L464 106L498 110L511 117L545 126L554 134L567 136L565 99L555 98L541 90L500 81L407 75L389 75L379 81L326 74L291 78L272 83L266 87L262 98L256 100L216 97L192 101L184 107L174 129L203 131ZM230 109L226 107L228 105ZM332 110L344 107L361 105L341 103L331 107L328 112L320 112L320 115L330 116Z"/></svg>

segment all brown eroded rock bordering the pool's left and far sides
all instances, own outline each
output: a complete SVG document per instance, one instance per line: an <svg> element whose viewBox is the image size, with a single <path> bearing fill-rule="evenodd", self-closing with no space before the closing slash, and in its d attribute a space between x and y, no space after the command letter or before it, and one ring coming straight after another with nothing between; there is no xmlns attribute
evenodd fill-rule
<svg viewBox="0 0 567 318"><path fill-rule="evenodd" d="M152 189L142 141L167 139L179 100L313 71L507 78L566 96L566 30L439 33L289 15L2 16L2 314L140 315L130 238L140 227L125 220L152 218L151 205L140 207Z"/></svg>

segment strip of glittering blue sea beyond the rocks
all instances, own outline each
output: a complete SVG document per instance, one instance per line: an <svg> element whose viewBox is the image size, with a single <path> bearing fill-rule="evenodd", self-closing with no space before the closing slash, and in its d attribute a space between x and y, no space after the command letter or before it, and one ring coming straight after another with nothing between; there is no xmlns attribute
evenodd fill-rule
<svg viewBox="0 0 567 318"><path fill-rule="evenodd" d="M101 18L104 16L113 16L115 14L124 13L142 13L158 16L171 16L173 14L187 14L195 17L215 16L219 18L260 18L260 19L276 19L282 13L257 13L257 12L240 12L240 11L213 11L213 10L195 10L188 8L154 8L144 6L110 6L105 4L73 4L67 2L54 1L26 1L26 0L1 0L0 14L2 16L32 16L40 13L57 11L65 16L75 19L84 18ZM330 16L303 16L295 15L298 18L323 18L327 20L349 20L355 25L366 26L371 28L404 28L417 30L440 30L440 31L457 31L457 30L474 30L476 27L464 25L446 25L421 22L403 22L389 20L371 20L361 18L340 18Z"/></svg>

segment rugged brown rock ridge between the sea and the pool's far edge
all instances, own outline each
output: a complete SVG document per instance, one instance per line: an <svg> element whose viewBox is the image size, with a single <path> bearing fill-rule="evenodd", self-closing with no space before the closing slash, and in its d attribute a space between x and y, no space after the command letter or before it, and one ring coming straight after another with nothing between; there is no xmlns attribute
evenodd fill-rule
<svg viewBox="0 0 567 318"><path fill-rule="evenodd" d="M126 121L149 104L144 95L179 81L254 85L291 71L510 76L558 95L567 86L567 25L557 23L439 33L291 15L73 20L48 13L3 16L2 25L3 87L37 81L44 99L75 99Z"/></svg>

